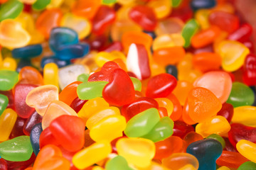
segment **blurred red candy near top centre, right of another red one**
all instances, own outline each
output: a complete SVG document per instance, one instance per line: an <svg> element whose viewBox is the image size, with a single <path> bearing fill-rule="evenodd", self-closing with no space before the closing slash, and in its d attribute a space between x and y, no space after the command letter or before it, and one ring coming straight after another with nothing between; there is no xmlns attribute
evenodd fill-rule
<svg viewBox="0 0 256 170"><path fill-rule="evenodd" d="M129 17L144 30L152 31L156 28L156 14L149 6L134 6L129 11Z"/></svg>

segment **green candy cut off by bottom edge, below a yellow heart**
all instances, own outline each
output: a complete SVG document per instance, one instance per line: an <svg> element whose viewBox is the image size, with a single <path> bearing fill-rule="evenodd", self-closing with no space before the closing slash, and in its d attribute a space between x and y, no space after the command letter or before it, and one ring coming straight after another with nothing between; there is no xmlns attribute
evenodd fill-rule
<svg viewBox="0 0 256 170"><path fill-rule="evenodd" d="M132 168L129 167L127 160L122 156L110 159L110 161L105 165L106 170L119 170L121 167L122 170L132 170Z"/></svg>

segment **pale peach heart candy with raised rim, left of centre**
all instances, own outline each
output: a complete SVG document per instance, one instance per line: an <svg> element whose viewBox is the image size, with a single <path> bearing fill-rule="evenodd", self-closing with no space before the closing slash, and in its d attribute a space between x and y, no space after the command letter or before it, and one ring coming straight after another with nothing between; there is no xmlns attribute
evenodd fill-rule
<svg viewBox="0 0 256 170"><path fill-rule="evenodd" d="M35 108L37 113L42 116L52 101L58 101L58 88L53 85L38 86L29 91L26 96L26 104Z"/></svg>

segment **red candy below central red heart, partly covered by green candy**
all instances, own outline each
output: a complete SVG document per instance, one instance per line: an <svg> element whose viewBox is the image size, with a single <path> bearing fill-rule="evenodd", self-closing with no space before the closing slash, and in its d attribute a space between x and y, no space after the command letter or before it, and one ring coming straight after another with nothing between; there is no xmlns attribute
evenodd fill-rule
<svg viewBox="0 0 256 170"><path fill-rule="evenodd" d="M127 122L142 111L149 108L159 108L159 104L153 98L137 98L134 102L124 105L121 109L122 115L126 118Z"/></svg>

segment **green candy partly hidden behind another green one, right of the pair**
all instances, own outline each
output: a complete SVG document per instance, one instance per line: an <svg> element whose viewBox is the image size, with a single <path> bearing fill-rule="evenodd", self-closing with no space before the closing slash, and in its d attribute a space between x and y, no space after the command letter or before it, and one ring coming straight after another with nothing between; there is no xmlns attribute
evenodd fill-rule
<svg viewBox="0 0 256 170"><path fill-rule="evenodd" d="M143 138L152 140L153 142L159 142L170 137L174 133L174 121L169 117L161 118L154 128Z"/></svg>

